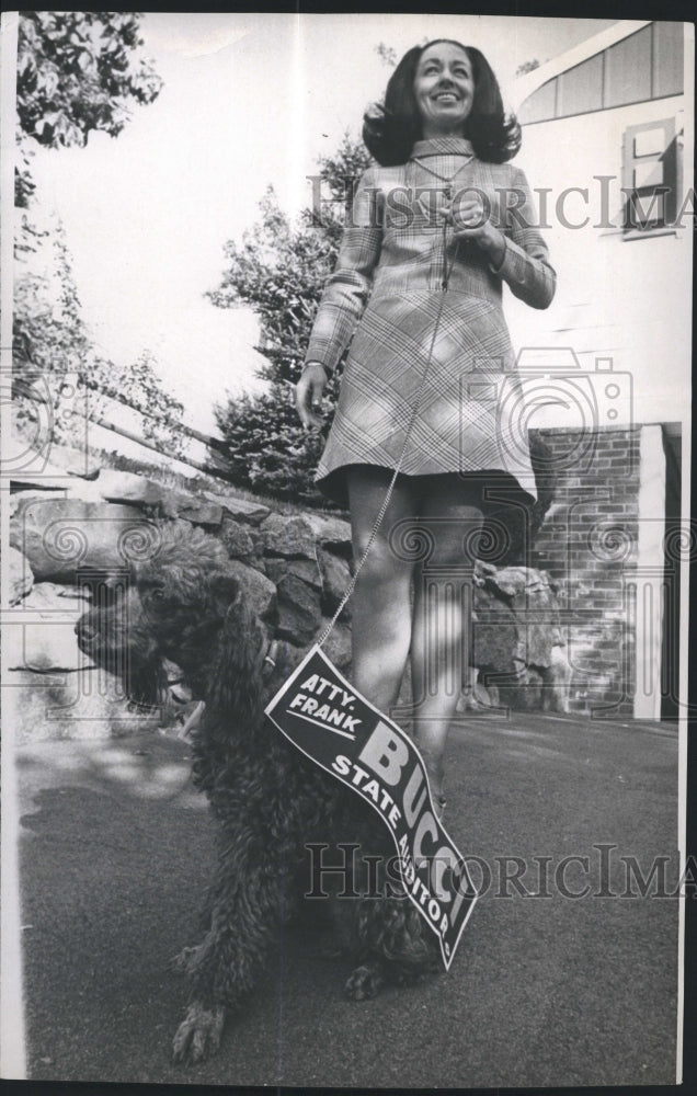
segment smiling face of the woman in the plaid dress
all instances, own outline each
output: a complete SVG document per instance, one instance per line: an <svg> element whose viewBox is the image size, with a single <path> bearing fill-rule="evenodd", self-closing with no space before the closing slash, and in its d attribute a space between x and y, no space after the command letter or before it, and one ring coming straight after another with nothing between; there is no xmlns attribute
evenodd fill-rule
<svg viewBox="0 0 697 1096"><path fill-rule="evenodd" d="M465 50L452 42L436 42L424 49L414 95L424 138L461 134L475 101L472 66Z"/></svg>

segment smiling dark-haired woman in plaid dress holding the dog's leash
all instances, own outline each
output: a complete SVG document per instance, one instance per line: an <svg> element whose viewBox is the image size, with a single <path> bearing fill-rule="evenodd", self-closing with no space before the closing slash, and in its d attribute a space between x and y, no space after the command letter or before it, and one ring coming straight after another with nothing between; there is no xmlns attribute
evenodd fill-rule
<svg viewBox="0 0 697 1096"><path fill-rule="evenodd" d="M321 429L312 408L351 342L317 481L347 502L356 560L397 470L357 574L353 680L387 712L411 652L411 719L442 809L469 608L437 576L471 575L476 534L496 491L512 505L532 502L525 431L511 411L518 390L502 283L546 308L555 272L525 176L505 162L519 148L519 126L505 118L478 49L446 39L410 49L363 135L378 165L358 184L297 408L306 429Z"/></svg>

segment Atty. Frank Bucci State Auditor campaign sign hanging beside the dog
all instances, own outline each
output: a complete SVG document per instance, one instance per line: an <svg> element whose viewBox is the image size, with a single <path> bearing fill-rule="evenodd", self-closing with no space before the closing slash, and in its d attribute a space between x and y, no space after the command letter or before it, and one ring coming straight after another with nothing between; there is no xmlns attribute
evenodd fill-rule
<svg viewBox="0 0 697 1096"><path fill-rule="evenodd" d="M448 970L476 900L465 860L436 818L412 740L315 646L265 709L298 750L376 810L402 884L438 937Z"/></svg>

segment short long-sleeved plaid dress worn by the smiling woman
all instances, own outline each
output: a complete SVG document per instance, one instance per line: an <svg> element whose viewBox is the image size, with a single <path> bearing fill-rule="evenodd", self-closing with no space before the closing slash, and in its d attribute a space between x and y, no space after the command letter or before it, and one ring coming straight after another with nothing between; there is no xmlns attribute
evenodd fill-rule
<svg viewBox="0 0 697 1096"><path fill-rule="evenodd" d="M494 270L475 241L456 241L450 232L446 293L437 216L446 184L424 164L445 179L455 175L455 212L460 196L479 191L505 238ZM502 308L503 282L534 308L552 299L555 272L535 225L523 172L476 159L464 138L418 141L405 164L365 172L307 352L308 362L332 370L351 344L316 477L328 495L346 504L346 467L395 469L401 458L400 470L411 476L504 472L535 496L527 416Z"/></svg>

